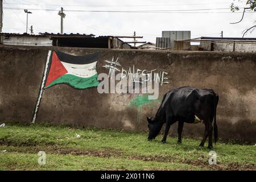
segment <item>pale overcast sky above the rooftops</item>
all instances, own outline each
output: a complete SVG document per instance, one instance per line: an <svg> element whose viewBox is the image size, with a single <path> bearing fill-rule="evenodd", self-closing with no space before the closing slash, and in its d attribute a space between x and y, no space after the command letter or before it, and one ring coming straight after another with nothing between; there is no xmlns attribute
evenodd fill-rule
<svg viewBox="0 0 256 182"><path fill-rule="evenodd" d="M26 13L23 9L28 9L32 12L28 15L28 26L34 27L35 34L60 32L60 16L57 15L57 10L63 6L66 10L64 11L66 14L64 33L68 34L79 32L96 36L131 36L136 31L137 35L143 36L140 40L154 43L156 37L162 36L163 30L190 30L192 38L217 37L220 36L221 31L224 32L224 37L241 37L242 31L255 24L256 13L246 13L242 22L230 24L230 22L237 22L242 16L241 13L230 13L229 7L232 2L233 0L4 0L2 31L26 32ZM237 2L237 5L244 7L245 0L241 3ZM171 13L163 13L163 11L158 11L158 13L102 13L68 10L175 11L168 11ZM256 30L245 37L256 37Z"/></svg>

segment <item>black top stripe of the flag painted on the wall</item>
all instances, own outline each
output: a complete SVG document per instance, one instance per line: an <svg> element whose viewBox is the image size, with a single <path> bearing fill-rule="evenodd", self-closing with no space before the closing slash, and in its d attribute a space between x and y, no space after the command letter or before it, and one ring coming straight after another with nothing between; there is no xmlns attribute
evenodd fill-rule
<svg viewBox="0 0 256 182"><path fill-rule="evenodd" d="M98 60L100 52L94 52L84 56L73 56L64 52L55 51L60 61L70 64L89 64Z"/></svg>

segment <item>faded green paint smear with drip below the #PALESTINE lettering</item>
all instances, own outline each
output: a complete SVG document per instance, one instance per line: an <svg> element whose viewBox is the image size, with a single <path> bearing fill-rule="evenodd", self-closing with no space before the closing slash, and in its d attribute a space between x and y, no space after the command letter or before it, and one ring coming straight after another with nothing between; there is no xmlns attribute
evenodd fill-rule
<svg viewBox="0 0 256 182"><path fill-rule="evenodd" d="M148 99L148 94L142 95L142 96L137 96L133 100L130 101L131 107L137 107L138 109L138 117L137 117L137 122L139 123L141 121L141 113L142 113L142 107L144 105L149 106L149 107L154 107L160 102L160 100L149 100Z"/></svg>

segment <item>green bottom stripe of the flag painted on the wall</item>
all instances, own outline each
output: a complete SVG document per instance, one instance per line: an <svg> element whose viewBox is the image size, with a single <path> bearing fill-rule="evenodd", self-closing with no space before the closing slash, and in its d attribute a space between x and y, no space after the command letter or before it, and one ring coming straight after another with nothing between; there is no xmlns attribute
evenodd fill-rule
<svg viewBox="0 0 256 182"><path fill-rule="evenodd" d="M82 78L75 75L66 74L51 82L51 84L49 84L46 88L57 84L67 84L75 89L86 89L98 86L99 82L97 80L97 77L98 74L95 74L88 78Z"/></svg>

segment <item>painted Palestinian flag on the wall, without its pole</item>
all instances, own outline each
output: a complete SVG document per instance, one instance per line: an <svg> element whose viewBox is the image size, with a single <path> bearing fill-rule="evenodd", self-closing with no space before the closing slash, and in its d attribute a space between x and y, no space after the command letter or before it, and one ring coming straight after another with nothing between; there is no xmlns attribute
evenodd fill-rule
<svg viewBox="0 0 256 182"><path fill-rule="evenodd" d="M67 84L75 89L86 89L98 85L96 64L98 52L85 56L73 56L53 51L50 69L44 88L57 84Z"/></svg>

